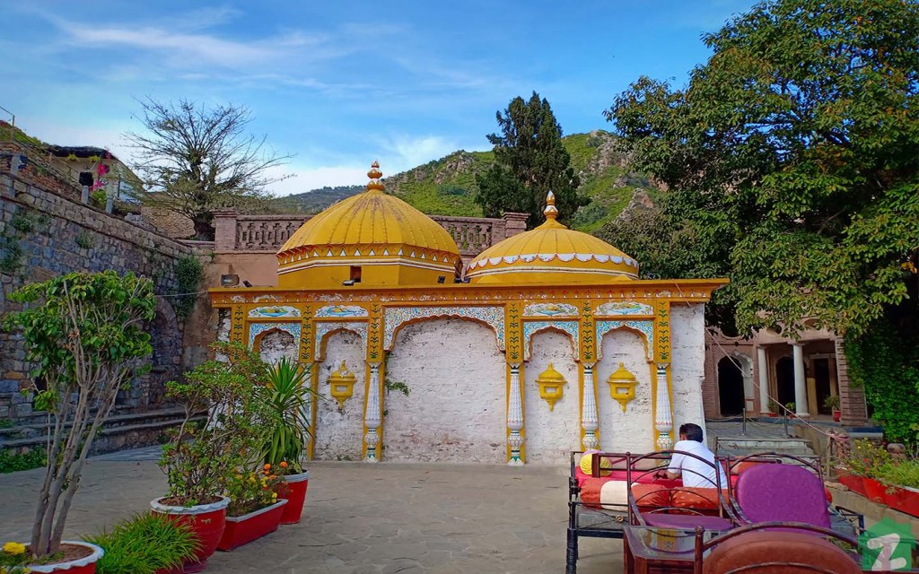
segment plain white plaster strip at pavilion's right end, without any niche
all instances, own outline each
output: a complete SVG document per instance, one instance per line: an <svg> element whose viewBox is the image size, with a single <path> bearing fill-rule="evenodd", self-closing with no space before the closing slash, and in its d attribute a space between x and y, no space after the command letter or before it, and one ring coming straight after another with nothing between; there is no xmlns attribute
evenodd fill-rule
<svg viewBox="0 0 919 574"><path fill-rule="evenodd" d="M705 377L705 305L672 305L670 308L671 375L674 438L684 422L705 429L702 379Z"/></svg>

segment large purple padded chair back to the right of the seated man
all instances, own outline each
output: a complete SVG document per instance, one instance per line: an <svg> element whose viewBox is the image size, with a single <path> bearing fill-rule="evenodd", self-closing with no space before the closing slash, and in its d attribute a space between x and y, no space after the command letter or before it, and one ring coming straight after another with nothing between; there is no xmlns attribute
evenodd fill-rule
<svg viewBox="0 0 919 574"><path fill-rule="evenodd" d="M756 465L737 479L736 499L754 523L796 522L830 527L823 484L794 465Z"/></svg>

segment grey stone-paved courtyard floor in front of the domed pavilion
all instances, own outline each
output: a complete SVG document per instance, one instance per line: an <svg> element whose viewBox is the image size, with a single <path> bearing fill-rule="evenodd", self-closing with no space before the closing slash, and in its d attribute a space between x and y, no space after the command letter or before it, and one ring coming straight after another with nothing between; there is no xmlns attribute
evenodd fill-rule
<svg viewBox="0 0 919 574"><path fill-rule="evenodd" d="M150 449L88 462L68 522L94 533L165 491ZM559 573L567 469L312 463L303 520L210 559L208 572ZM41 470L0 475L0 541L26 540ZM622 572L618 540L581 541L581 574Z"/></svg>

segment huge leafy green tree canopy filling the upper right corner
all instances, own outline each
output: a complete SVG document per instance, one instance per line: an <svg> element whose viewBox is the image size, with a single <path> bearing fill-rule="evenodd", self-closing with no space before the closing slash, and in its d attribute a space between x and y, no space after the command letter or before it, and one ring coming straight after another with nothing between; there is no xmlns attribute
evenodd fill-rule
<svg viewBox="0 0 919 574"><path fill-rule="evenodd" d="M653 219L641 237L627 218L607 238L671 276L730 276L719 302L743 333L857 336L911 292L914 307L917 39L919 5L901 0L733 17L686 86L641 77L607 110L633 167L669 188L630 216Z"/></svg>

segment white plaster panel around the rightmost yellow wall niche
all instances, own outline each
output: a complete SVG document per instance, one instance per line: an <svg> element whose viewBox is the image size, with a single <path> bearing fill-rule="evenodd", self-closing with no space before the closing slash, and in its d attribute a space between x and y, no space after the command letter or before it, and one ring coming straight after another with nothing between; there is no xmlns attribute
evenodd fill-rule
<svg viewBox="0 0 919 574"><path fill-rule="evenodd" d="M600 448L607 452L646 453L654 450L654 416L651 366L641 335L627 329L607 332L601 342L603 356L596 365L596 406ZM609 394L607 378L622 363L638 379L635 399L626 405Z"/></svg>

